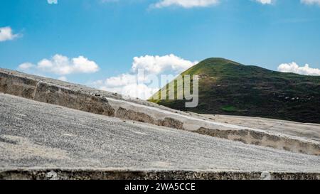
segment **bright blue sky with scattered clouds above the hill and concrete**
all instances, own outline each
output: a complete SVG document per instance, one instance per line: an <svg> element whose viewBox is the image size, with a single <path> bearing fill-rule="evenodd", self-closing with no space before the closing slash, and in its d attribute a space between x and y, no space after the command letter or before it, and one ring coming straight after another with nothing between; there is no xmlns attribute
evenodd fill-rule
<svg viewBox="0 0 320 194"><path fill-rule="evenodd" d="M199 2L4 0L0 67L17 70L28 63L26 72L106 90L110 77L129 82L122 75L134 72L134 62L142 68L163 65L156 74L175 74L197 61L222 57L320 75L319 0ZM59 72L53 67L59 63L68 69Z"/></svg>

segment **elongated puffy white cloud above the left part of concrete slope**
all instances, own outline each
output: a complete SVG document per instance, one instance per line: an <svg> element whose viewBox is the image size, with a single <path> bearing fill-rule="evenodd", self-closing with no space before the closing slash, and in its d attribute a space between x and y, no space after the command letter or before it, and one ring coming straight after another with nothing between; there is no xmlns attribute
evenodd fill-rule
<svg viewBox="0 0 320 194"><path fill-rule="evenodd" d="M36 65L33 63L22 63L18 65L18 70L23 72L41 72L41 73L53 73L54 75L70 75L74 73L92 73L99 70L99 66L92 60L88 60L83 56L78 58L69 59L63 55L54 55L50 59L44 58L40 60ZM60 80L66 80L60 79Z"/></svg>

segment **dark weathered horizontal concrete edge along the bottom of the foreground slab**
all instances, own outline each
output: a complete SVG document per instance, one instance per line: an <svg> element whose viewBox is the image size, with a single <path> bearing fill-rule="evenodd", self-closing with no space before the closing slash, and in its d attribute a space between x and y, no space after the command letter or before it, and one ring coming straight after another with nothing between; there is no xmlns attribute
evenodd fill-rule
<svg viewBox="0 0 320 194"><path fill-rule="evenodd" d="M0 180L320 180L320 172L0 168Z"/></svg>

